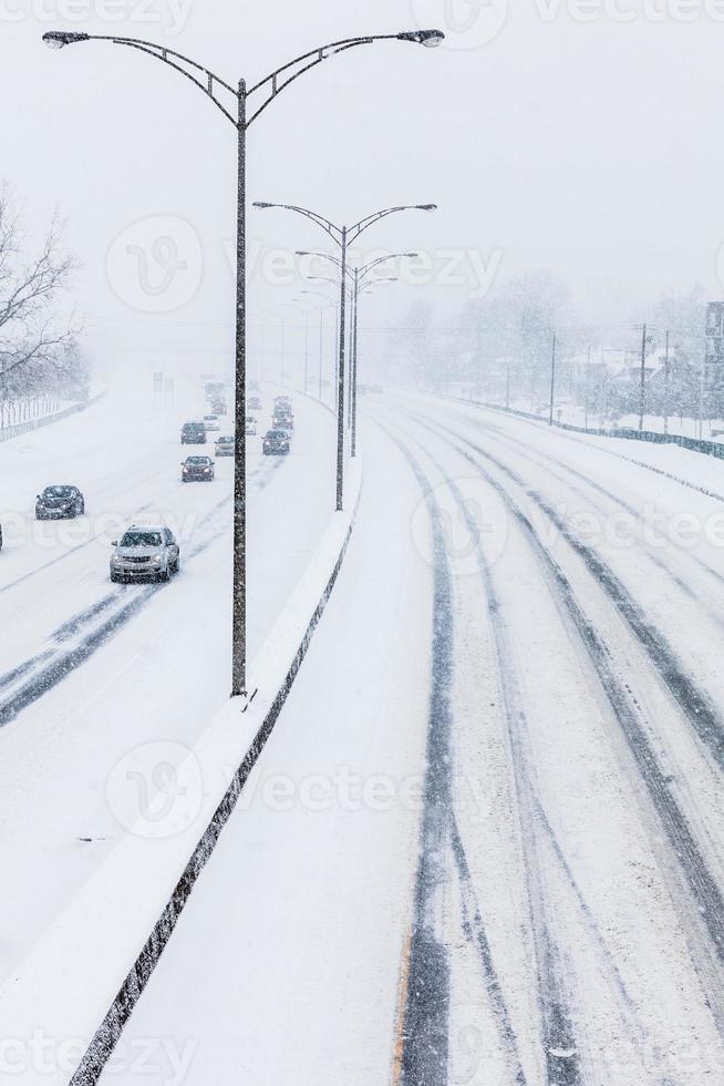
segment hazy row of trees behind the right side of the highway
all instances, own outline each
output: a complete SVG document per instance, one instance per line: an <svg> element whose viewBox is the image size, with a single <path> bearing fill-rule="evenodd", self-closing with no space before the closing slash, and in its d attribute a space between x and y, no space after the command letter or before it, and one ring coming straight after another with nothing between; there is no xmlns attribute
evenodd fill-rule
<svg viewBox="0 0 724 1086"><path fill-rule="evenodd" d="M653 307L645 340L648 413L699 416L706 300L697 287L662 295ZM601 422L639 411L643 334L634 315L618 326L583 326L570 290L550 272L511 278L469 301L455 319L439 319L421 303L403 325L395 334L395 354L404 359L397 376L418 387L547 411L555 334L557 404L576 404ZM724 417L724 388L711 372L705 377L704 417Z"/></svg>

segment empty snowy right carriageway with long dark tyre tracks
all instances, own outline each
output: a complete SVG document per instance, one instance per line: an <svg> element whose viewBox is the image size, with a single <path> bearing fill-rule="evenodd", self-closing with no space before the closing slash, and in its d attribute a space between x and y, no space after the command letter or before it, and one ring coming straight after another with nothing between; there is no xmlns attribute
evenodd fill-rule
<svg viewBox="0 0 724 1086"><path fill-rule="evenodd" d="M103 1083L724 1082L722 465L365 406L332 601Z"/></svg>

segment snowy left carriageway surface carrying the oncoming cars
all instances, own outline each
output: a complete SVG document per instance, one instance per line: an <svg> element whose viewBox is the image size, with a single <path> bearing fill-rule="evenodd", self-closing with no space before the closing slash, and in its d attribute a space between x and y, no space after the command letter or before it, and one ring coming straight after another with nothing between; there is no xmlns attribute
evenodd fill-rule
<svg viewBox="0 0 724 1086"><path fill-rule="evenodd" d="M332 416L297 397L289 458L249 460L249 653L296 586L334 503ZM177 381L164 410L133 388L0 445L0 976L17 965L126 827L110 809L114 767L147 742L174 764L229 689L232 460L182 484L179 427L206 410ZM262 429L263 427L263 429ZM224 431L221 431L224 432ZM314 484L309 480L313 473ZM34 496L71 482L77 521L38 523ZM168 585L112 585L110 542L134 519L178 534Z"/></svg>

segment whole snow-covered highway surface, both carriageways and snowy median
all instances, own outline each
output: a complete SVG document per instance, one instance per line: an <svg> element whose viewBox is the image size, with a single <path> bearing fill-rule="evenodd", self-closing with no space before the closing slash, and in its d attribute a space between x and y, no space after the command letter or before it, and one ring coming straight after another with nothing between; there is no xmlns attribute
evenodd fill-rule
<svg viewBox="0 0 724 1086"><path fill-rule="evenodd" d="M339 514L334 416L291 395L290 455L247 439L246 714L198 381L0 443L8 1082L71 1078L351 526L103 1086L724 1083L724 463L387 390ZM85 515L37 522L50 483ZM168 584L110 583L137 520Z"/></svg>

